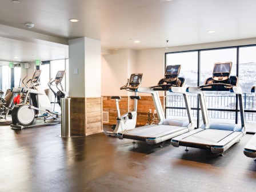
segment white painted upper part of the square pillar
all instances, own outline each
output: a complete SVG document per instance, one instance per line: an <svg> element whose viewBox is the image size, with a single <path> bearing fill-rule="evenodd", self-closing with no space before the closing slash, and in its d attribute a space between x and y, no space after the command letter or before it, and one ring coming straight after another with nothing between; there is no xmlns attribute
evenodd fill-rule
<svg viewBox="0 0 256 192"><path fill-rule="evenodd" d="M69 41L69 96L101 97L101 41Z"/></svg>

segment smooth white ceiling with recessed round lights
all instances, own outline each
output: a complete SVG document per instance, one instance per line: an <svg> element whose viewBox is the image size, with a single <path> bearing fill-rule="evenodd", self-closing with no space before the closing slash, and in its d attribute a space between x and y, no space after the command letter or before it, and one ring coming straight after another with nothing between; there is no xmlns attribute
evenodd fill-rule
<svg viewBox="0 0 256 192"><path fill-rule="evenodd" d="M67 58L67 40L78 37L99 39L110 50L165 47L167 39L181 46L256 37L255 0L19 1L0 1L0 60Z"/></svg>

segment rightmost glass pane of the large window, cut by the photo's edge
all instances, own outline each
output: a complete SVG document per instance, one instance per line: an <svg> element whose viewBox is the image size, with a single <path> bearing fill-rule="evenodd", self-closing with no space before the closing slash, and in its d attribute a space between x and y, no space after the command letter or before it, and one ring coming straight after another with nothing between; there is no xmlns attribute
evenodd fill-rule
<svg viewBox="0 0 256 192"><path fill-rule="evenodd" d="M256 110L255 94L251 87L256 86L256 46L239 49L239 86L243 90L243 106L245 110ZM256 113L246 112L245 121L247 131L256 131Z"/></svg>

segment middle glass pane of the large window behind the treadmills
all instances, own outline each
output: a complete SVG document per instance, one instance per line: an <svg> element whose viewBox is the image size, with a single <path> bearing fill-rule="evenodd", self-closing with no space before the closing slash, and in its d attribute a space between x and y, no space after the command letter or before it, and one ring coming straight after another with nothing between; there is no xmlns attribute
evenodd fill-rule
<svg viewBox="0 0 256 192"><path fill-rule="evenodd" d="M201 51L201 81L203 85L205 80L213 77L213 67L216 62L233 63L231 75L236 75L237 68L237 49L219 49ZM218 109L235 109L235 94L229 92L208 91L205 92L206 106L209 110L209 118L212 121L235 123L235 112L220 111ZM217 110L216 110L217 109ZM202 123L202 122L201 122Z"/></svg>

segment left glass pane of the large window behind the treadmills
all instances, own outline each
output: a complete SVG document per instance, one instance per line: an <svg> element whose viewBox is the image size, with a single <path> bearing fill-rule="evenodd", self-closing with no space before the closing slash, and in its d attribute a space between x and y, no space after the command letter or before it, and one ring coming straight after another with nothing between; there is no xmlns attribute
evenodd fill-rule
<svg viewBox="0 0 256 192"><path fill-rule="evenodd" d="M166 65L181 65L179 77L185 78L184 87L197 86L198 81L198 52L191 51L186 53L170 53L166 54ZM191 107L197 108L197 95L189 94ZM167 92L166 107L184 107L185 102L182 94L174 94ZM197 110L191 111L194 119L197 118ZM184 119L187 116L185 109L166 109L166 118Z"/></svg>

